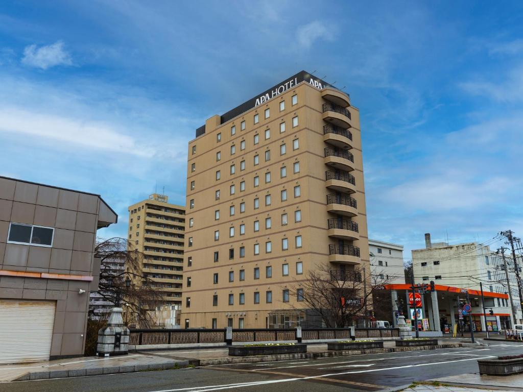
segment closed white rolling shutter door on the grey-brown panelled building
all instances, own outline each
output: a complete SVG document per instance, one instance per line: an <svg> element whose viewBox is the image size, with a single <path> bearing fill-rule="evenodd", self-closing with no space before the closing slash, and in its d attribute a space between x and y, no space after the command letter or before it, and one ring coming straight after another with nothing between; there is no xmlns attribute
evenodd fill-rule
<svg viewBox="0 0 523 392"><path fill-rule="evenodd" d="M55 309L54 301L0 299L0 364L49 360Z"/></svg>

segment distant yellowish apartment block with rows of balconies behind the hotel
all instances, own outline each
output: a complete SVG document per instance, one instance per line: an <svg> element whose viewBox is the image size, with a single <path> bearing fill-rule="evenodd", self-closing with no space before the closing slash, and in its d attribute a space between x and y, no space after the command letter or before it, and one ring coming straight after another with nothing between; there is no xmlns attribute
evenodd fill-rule
<svg viewBox="0 0 523 392"><path fill-rule="evenodd" d="M168 203L167 195L153 193L128 210L128 237L134 249L143 252L143 278L164 292L163 305L180 305L185 207Z"/></svg>

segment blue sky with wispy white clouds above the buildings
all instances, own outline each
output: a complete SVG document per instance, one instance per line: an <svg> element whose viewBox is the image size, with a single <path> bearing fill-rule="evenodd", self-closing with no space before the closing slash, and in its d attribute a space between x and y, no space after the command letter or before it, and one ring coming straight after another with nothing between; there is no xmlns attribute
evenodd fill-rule
<svg viewBox="0 0 523 392"><path fill-rule="evenodd" d="M2 2L0 175L185 202L187 142L300 70L361 111L369 235L523 236L520 2ZM81 151L81 153L78 153Z"/></svg>

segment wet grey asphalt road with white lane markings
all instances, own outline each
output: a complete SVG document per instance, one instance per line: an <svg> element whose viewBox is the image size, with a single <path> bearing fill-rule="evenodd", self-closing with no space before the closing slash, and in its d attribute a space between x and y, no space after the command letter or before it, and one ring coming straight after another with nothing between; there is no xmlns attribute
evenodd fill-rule
<svg viewBox="0 0 523 392"><path fill-rule="evenodd" d="M438 377L477 373L477 359L523 353L523 344L338 356L160 372L0 384L0 392L376 391Z"/></svg>

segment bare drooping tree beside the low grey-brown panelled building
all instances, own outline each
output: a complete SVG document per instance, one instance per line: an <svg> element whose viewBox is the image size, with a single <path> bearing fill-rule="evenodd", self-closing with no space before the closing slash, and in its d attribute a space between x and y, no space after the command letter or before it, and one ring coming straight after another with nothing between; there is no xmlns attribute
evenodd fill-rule
<svg viewBox="0 0 523 392"><path fill-rule="evenodd" d="M101 259L98 294L114 304L125 304L125 320L141 327L151 326L150 310L162 303L162 292L142 273L143 253L126 239L97 239L95 257ZM111 260L123 261L125 269L115 271Z"/></svg>

